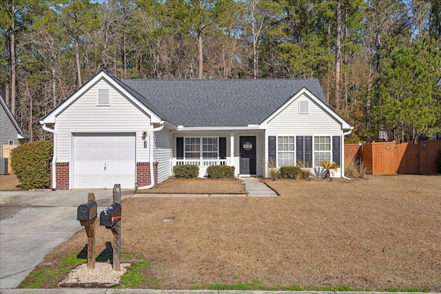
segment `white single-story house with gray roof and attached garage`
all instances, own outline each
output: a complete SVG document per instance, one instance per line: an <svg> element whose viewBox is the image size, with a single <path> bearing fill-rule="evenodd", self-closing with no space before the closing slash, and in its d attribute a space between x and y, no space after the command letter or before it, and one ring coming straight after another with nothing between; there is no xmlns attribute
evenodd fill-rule
<svg viewBox="0 0 441 294"><path fill-rule="evenodd" d="M267 176L320 160L344 166L353 127L316 79L118 80L99 72L40 121L54 133L52 189L154 187L175 165ZM334 176L344 174L338 169Z"/></svg>

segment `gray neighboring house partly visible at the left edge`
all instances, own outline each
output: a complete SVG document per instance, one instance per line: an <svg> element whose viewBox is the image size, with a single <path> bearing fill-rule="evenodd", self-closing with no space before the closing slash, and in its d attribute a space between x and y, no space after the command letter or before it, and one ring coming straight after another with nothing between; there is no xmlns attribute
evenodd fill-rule
<svg viewBox="0 0 441 294"><path fill-rule="evenodd" d="M3 145L21 145L30 137L23 132L1 95L0 104L0 156L3 157Z"/></svg>

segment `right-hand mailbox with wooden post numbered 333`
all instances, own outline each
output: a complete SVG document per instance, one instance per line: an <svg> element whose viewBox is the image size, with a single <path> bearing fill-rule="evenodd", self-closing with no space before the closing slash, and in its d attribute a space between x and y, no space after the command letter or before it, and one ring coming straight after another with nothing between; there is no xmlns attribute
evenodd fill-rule
<svg viewBox="0 0 441 294"><path fill-rule="evenodd" d="M113 188L113 203L101 211L100 226L111 229L113 234L113 270L121 271L121 185Z"/></svg>

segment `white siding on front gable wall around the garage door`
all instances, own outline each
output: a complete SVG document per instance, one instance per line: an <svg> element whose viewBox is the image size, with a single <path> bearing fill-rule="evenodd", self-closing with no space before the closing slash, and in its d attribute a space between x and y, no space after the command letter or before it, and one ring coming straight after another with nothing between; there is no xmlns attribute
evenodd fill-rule
<svg viewBox="0 0 441 294"><path fill-rule="evenodd" d="M110 90L110 105L97 106L98 89ZM69 162L71 133L136 132L136 162L149 162L150 118L120 92L101 80L57 117L57 162ZM143 131L147 131L144 148Z"/></svg>

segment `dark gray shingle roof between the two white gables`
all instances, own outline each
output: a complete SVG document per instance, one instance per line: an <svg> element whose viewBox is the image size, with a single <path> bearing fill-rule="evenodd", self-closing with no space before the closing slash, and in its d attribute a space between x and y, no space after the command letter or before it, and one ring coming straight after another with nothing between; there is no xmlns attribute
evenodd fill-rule
<svg viewBox="0 0 441 294"><path fill-rule="evenodd" d="M317 79L127 79L120 85L162 119L186 127L258 125L303 87L327 104Z"/></svg>

